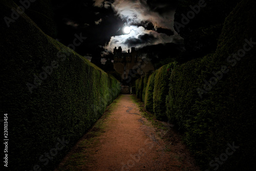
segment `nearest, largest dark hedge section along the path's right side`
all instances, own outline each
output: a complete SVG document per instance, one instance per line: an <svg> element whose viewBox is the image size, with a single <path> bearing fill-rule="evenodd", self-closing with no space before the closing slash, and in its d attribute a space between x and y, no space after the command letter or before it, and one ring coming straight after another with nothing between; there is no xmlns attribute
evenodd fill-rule
<svg viewBox="0 0 256 171"><path fill-rule="evenodd" d="M168 118L203 170L256 170L256 47L248 44L256 42L255 8L242 1L226 18L217 51L176 66L170 77ZM228 143L239 146L232 155Z"/></svg>

